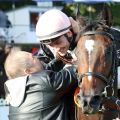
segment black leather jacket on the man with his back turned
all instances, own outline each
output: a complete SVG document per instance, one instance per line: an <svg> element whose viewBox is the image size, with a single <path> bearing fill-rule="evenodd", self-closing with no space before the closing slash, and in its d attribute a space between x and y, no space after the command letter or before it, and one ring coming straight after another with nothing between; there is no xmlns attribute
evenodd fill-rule
<svg viewBox="0 0 120 120"><path fill-rule="evenodd" d="M20 104L10 106L9 120L69 120L64 95L77 84L74 70L44 70L28 76Z"/></svg>

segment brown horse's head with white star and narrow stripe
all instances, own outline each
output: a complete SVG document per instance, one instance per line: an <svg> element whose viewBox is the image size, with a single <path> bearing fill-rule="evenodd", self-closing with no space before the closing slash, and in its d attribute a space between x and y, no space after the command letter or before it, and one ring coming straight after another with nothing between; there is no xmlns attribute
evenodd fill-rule
<svg viewBox="0 0 120 120"><path fill-rule="evenodd" d="M82 112L93 114L99 111L102 92L110 84L113 65L112 35L102 22L92 22L78 35L75 51L78 66L79 88L75 102Z"/></svg>

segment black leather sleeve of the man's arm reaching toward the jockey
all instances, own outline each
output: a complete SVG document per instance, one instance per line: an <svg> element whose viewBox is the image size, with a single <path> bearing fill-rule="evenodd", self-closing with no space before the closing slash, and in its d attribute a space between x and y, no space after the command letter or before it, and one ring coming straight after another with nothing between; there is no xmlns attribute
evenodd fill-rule
<svg viewBox="0 0 120 120"><path fill-rule="evenodd" d="M74 66L64 68L59 72L50 72L48 83L52 89L67 92L77 84L76 68Z"/></svg>

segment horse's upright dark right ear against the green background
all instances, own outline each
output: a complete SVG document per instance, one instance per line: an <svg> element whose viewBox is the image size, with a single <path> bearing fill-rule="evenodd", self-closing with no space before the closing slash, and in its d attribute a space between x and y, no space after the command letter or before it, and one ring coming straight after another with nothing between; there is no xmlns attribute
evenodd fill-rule
<svg viewBox="0 0 120 120"><path fill-rule="evenodd" d="M104 22L107 26L111 27L113 24L113 15L111 7L107 4L103 5L103 10L100 14L100 20Z"/></svg>

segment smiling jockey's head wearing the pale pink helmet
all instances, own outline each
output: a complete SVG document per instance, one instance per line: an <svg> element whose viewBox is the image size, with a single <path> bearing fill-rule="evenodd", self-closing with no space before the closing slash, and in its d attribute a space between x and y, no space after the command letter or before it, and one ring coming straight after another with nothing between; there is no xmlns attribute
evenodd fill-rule
<svg viewBox="0 0 120 120"><path fill-rule="evenodd" d="M62 11L51 9L40 16L36 25L38 40L51 46L62 56L70 47L73 36L69 17Z"/></svg>

